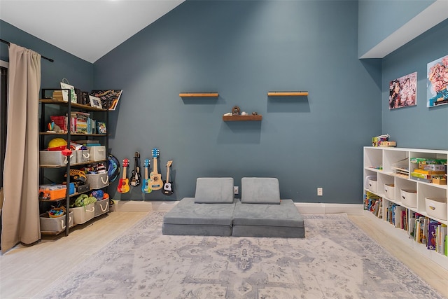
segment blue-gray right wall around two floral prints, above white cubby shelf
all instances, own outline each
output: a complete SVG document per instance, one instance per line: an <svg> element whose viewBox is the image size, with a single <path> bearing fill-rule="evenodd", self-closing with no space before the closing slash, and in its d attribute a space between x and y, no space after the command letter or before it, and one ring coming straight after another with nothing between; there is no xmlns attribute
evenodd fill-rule
<svg viewBox="0 0 448 299"><path fill-rule="evenodd" d="M391 134L400 147L448 150L448 105L426 107L428 62L448 55L447 36L445 20L382 60L382 131ZM389 83L414 71L417 105L389 110Z"/></svg>

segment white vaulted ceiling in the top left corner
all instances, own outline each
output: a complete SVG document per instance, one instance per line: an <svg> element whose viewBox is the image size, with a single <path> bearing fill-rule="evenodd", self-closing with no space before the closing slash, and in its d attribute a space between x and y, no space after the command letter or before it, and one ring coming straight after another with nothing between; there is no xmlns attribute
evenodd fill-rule
<svg viewBox="0 0 448 299"><path fill-rule="evenodd" d="M0 0L0 19L96 62L185 0Z"/></svg>

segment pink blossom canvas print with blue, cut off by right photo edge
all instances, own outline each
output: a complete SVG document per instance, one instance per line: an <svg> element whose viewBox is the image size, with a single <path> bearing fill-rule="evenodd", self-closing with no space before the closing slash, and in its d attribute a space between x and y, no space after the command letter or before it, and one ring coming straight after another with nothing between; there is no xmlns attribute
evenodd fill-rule
<svg viewBox="0 0 448 299"><path fill-rule="evenodd" d="M426 106L448 104L448 55L428 63L428 83Z"/></svg>

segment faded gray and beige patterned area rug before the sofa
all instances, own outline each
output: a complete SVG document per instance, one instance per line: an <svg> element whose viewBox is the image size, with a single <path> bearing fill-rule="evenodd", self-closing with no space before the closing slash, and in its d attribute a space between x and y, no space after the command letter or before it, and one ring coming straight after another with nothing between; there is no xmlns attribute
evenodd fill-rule
<svg viewBox="0 0 448 299"><path fill-rule="evenodd" d="M443 298L345 214L304 239L162 235L152 212L34 298Z"/></svg>

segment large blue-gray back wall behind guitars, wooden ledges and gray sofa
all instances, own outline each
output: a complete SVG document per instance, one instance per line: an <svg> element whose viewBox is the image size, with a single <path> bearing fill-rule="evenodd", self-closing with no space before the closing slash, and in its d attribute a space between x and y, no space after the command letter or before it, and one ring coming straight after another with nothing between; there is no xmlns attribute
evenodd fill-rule
<svg viewBox="0 0 448 299"><path fill-rule="evenodd" d="M283 198L361 202L362 146L381 134L381 68L358 60L357 36L357 1L186 1L132 36L94 63L94 88L124 90L109 144L131 169L134 151L144 160L159 148L164 177L174 160L175 193L113 197L179 200L199 176L237 186L274 176ZM210 90L218 99L179 97ZM223 122L234 105L262 122Z"/></svg>

